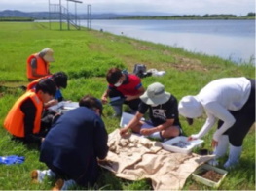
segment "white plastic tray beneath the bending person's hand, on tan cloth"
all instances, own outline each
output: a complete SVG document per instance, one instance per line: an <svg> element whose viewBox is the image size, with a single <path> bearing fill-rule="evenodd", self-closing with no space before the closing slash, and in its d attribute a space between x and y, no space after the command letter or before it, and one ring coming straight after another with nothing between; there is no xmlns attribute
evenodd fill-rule
<svg viewBox="0 0 256 191"><path fill-rule="evenodd" d="M172 152L179 152L179 153L191 153L192 149L195 147L200 147L203 140L193 140L187 141L188 137L185 136L178 136L171 140L168 140L162 143L162 146L165 150L172 151Z"/></svg>

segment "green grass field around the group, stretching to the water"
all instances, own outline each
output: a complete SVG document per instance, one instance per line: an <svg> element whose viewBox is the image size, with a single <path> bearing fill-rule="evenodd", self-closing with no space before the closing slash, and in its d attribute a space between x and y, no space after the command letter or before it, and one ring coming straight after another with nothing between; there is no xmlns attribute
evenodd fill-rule
<svg viewBox="0 0 256 191"><path fill-rule="evenodd" d="M147 69L165 70L163 77L143 79L143 85L159 81L165 89L179 100L185 95L195 95L206 83L224 77L255 78L255 68L251 63L236 65L230 60L216 56L184 51L149 42L137 41L89 30L59 31L49 30L48 23L0 22L0 156L25 156L21 165L0 165L0 190L49 190L54 181L46 179L43 184L32 184L30 172L46 169L39 162L39 152L33 146L25 146L11 141L11 136L2 127L7 112L11 109L22 90L15 88L26 85L26 59L43 48L53 48L55 62L51 72L64 71L69 76L68 87L63 90L67 100L78 101L85 94L100 98L107 87L106 71L110 67L120 67L132 72L135 63L145 64ZM6 88L5 86L13 87ZM127 108L125 110L128 110ZM109 106L104 106L103 120L108 133L119 128L119 119L111 118ZM189 127L183 117L181 123L185 134L190 135L201 129L205 116ZM204 147L211 149L214 129L204 139ZM225 159L224 159L225 161ZM224 162L223 161L223 162ZM101 190L150 190L148 180L128 181L102 170L97 187ZM75 189L85 189L77 187ZM191 177L184 190L208 190L197 184ZM229 172L219 190L255 190L255 126L244 140L240 165Z"/></svg>

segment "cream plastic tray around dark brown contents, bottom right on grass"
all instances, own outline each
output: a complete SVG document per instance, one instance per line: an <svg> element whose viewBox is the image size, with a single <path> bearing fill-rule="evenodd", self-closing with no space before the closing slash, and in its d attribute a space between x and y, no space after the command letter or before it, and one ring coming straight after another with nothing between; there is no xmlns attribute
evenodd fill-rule
<svg viewBox="0 0 256 191"><path fill-rule="evenodd" d="M215 182L213 180L204 178L200 175L203 171L210 171L210 170L216 172L217 174L222 175L222 177L217 182ZM227 174L228 172L223 169L219 169L217 167L213 167L208 164L203 164L198 169L196 169L194 173L192 173L192 178L209 187L218 188Z"/></svg>

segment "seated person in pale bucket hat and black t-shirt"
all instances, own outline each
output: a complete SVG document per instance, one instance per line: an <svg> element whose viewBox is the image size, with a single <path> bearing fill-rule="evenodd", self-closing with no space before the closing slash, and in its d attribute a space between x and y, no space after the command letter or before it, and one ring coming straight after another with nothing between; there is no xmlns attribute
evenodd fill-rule
<svg viewBox="0 0 256 191"><path fill-rule="evenodd" d="M165 92L165 86L159 82L148 86L146 92L140 96L141 103L135 116L130 120L128 126L120 129L123 136L131 129L142 135L151 135L159 132L158 138L173 138L182 132L179 122L178 103L176 98ZM141 128L143 122L140 119L149 110L152 128Z"/></svg>

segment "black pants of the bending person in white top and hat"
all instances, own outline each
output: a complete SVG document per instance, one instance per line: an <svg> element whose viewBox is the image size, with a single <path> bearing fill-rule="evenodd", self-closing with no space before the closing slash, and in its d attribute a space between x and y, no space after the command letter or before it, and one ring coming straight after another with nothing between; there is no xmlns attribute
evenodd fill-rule
<svg viewBox="0 0 256 191"><path fill-rule="evenodd" d="M229 136L229 141L234 146L241 146L243 139L255 122L255 80L249 79L251 82L251 92L247 102L239 111L230 111L235 117L235 124L229 128L224 135ZM218 121L218 129L223 121Z"/></svg>

